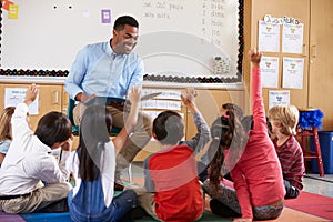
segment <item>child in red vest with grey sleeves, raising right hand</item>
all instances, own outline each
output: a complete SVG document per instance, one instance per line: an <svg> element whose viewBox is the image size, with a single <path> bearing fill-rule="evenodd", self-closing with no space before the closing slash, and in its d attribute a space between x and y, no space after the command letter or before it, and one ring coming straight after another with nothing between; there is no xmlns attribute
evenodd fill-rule
<svg viewBox="0 0 333 222"><path fill-rule="evenodd" d="M154 119L152 130L153 138L161 143L161 150L144 160L145 190L135 189L139 205L158 221L194 221L203 213L193 150L198 141L209 139L209 129L204 127L205 122L194 103L196 92L188 89L186 93L182 95L182 101L193 113L196 127L201 125L198 130L205 133L181 142L184 135L182 117L170 110L161 112Z"/></svg>

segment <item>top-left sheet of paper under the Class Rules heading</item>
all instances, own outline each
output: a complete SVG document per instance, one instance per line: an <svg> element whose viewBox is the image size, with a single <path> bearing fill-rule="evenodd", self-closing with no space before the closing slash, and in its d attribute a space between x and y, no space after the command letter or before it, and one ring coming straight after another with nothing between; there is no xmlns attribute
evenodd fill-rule
<svg viewBox="0 0 333 222"><path fill-rule="evenodd" d="M280 24L259 21L258 32L260 51L280 52Z"/></svg>

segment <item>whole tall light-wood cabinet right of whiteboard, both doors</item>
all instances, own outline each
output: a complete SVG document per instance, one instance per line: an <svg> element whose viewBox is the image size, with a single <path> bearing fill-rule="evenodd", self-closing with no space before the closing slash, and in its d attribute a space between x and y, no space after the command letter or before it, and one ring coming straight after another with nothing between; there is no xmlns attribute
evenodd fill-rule
<svg viewBox="0 0 333 222"><path fill-rule="evenodd" d="M332 0L250 0L244 1L244 30L245 50L258 44L258 22L265 14L274 18L292 17L304 24L303 52L301 54L264 52L264 56L279 57L280 73L279 88L264 88L264 104L269 108L270 90L290 90L291 104L299 108L319 108L324 112L323 130L333 130L333 70L331 68L333 44L330 37L333 36L333 1ZM304 77L302 89L282 88L282 59L283 57L303 58ZM250 62L244 58L244 83L250 89ZM248 90L249 93L249 90ZM248 110L250 111L249 105Z"/></svg>

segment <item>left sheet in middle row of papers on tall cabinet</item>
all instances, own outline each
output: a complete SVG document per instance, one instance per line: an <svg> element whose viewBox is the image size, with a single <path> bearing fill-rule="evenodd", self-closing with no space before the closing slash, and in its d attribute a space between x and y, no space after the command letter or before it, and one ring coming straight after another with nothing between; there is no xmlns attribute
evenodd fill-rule
<svg viewBox="0 0 333 222"><path fill-rule="evenodd" d="M278 88L279 83L279 58L262 57L260 62L261 82L263 88Z"/></svg>

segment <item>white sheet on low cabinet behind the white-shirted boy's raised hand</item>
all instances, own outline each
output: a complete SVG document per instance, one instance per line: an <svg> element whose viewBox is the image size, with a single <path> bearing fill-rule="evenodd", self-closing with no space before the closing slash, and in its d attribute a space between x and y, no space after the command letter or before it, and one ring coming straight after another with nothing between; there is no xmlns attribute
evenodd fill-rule
<svg viewBox="0 0 333 222"><path fill-rule="evenodd" d="M19 103L24 101L26 98L26 88L6 88L4 89L4 108L7 107L17 107ZM29 114L38 115L39 108L39 98L29 105Z"/></svg>

